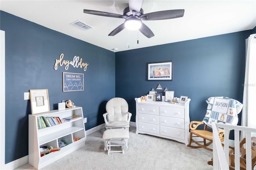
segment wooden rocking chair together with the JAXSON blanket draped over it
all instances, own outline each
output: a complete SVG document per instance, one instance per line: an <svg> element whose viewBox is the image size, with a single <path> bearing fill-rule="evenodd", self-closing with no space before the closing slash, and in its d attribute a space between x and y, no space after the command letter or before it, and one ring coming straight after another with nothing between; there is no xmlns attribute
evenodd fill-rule
<svg viewBox="0 0 256 170"><path fill-rule="evenodd" d="M210 97L206 102L208 106L202 122L192 121L189 124L190 140L188 146L212 151L212 148L208 147L213 141L212 123L237 125L238 114L241 112L243 104L227 97ZM203 130L198 128L200 125L204 126ZM223 142L224 130L219 130L219 137L220 141Z"/></svg>

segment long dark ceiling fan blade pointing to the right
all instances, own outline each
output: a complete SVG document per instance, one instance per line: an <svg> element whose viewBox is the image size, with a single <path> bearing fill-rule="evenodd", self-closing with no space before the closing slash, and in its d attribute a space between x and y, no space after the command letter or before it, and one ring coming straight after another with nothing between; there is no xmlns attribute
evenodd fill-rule
<svg viewBox="0 0 256 170"><path fill-rule="evenodd" d="M166 10L143 14L140 16L141 20L167 20L172 18L180 18L184 16L185 10Z"/></svg>

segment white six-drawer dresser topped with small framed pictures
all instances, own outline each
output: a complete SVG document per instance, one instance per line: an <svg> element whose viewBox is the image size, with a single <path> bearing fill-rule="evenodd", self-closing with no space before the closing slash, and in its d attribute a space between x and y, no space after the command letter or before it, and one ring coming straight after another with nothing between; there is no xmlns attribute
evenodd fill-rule
<svg viewBox="0 0 256 170"><path fill-rule="evenodd" d="M136 101L136 134L150 134L188 145L189 103Z"/></svg>

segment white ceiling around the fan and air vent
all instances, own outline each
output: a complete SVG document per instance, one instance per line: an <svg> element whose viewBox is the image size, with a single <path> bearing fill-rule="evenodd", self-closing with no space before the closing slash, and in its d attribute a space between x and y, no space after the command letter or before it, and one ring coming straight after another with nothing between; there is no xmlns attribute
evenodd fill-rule
<svg viewBox="0 0 256 170"><path fill-rule="evenodd" d="M90 9L122 15L126 7L128 0L0 1L0 10L114 52L251 30L256 26L256 0L144 0L144 14L185 10L182 18L144 20L155 34L152 38L126 28L115 36L108 36L124 19L83 12ZM71 26L70 23L76 20L94 28L83 31Z"/></svg>

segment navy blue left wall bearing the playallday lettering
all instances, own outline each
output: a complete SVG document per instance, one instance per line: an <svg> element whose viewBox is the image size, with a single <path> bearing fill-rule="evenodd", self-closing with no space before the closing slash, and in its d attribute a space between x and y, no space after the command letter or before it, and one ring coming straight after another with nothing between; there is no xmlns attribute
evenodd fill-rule
<svg viewBox="0 0 256 170"><path fill-rule="evenodd" d="M105 104L115 96L115 53L50 30L1 11L6 54L6 148L5 162L28 155L28 114L30 100L24 92L48 89L50 110L61 100L71 99L82 106L86 130L104 123ZM78 30L79 31L79 30ZM87 70L58 66L55 59L74 56L89 63ZM62 72L84 74L84 91L62 92Z"/></svg>

